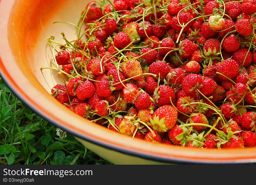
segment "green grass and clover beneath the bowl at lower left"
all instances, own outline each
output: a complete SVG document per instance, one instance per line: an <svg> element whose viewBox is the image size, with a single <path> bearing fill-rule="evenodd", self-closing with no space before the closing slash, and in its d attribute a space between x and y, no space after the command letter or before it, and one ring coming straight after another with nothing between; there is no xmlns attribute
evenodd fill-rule
<svg viewBox="0 0 256 185"><path fill-rule="evenodd" d="M0 164L111 164L24 105L0 78Z"/></svg>

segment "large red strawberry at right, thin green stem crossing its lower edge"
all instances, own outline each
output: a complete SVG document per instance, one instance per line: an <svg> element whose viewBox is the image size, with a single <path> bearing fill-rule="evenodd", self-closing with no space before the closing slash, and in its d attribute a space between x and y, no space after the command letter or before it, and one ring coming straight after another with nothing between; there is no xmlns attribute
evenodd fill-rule
<svg viewBox="0 0 256 185"><path fill-rule="evenodd" d="M226 59L217 65L217 71L230 79L234 79L239 72L239 64L233 59ZM217 76L221 80L228 81L226 77L220 74L217 74Z"/></svg>

